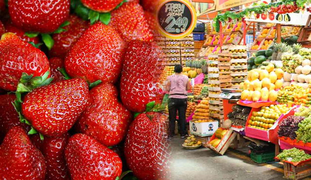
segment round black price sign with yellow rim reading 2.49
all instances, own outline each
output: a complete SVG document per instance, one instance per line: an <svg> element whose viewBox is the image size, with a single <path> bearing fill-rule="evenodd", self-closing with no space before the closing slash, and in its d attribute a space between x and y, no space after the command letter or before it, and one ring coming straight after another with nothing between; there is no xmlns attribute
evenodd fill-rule
<svg viewBox="0 0 311 180"><path fill-rule="evenodd" d="M157 9L156 20L162 35L180 39L192 33L196 13L188 0L162 0Z"/></svg>

